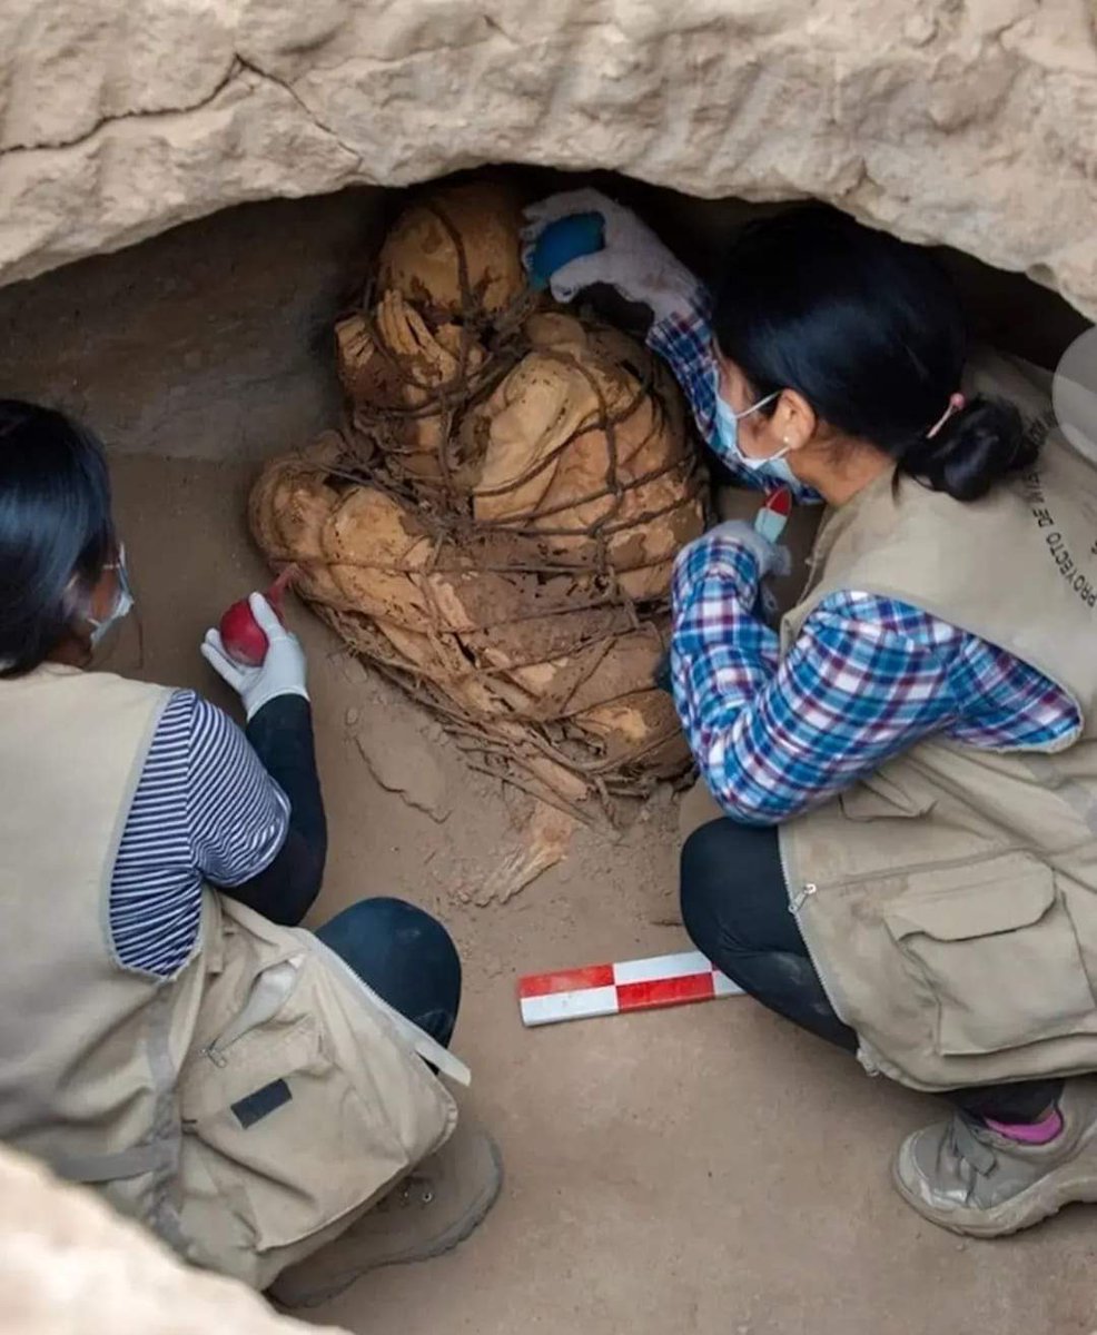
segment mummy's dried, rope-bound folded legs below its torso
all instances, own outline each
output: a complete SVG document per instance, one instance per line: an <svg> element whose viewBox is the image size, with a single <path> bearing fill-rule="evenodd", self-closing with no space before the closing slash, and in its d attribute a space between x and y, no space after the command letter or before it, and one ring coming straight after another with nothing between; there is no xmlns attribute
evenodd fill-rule
<svg viewBox="0 0 1097 1335"><path fill-rule="evenodd" d="M619 605L587 606L599 597L589 578L486 571L471 561L460 569L470 551L439 550L395 498L368 486L340 495L323 474L299 469L290 459L264 471L252 509L266 518L255 533L271 559L302 561L310 573L302 591L327 607L352 647L430 682L435 701L448 700L472 726L506 721L508 753L558 796L575 786L561 785L567 754L512 745L557 718L573 720L567 736L581 746L571 754L587 738L599 770L642 773L649 758L661 773L683 768L681 748L667 750L666 697L645 690L661 629L634 630ZM500 537L472 551L498 547Z"/></svg>

